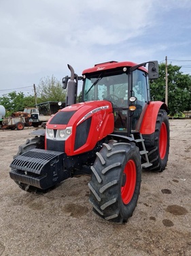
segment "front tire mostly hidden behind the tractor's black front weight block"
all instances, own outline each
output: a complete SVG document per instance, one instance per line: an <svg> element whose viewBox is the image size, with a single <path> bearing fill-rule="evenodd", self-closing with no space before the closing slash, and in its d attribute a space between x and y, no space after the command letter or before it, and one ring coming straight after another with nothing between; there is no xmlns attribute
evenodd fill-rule
<svg viewBox="0 0 191 256"><path fill-rule="evenodd" d="M35 137L33 139L27 139L26 143L20 145L18 147L18 153L14 156L16 158L17 156L20 156L24 152L27 152L29 150L33 150L34 148L39 148L41 150L44 150L44 137ZM27 192L30 193L43 193L46 192L46 190L42 190L41 188L36 188L35 186L30 186L28 184L24 184L22 182L17 182L14 180L18 186Z"/></svg>

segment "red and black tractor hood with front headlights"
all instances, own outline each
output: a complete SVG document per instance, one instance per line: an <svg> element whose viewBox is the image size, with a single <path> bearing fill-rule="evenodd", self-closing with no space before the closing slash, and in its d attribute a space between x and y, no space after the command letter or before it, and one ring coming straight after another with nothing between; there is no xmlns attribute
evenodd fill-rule
<svg viewBox="0 0 191 256"><path fill-rule="evenodd" d="M81 102L58 111L46 125L46 149L68 156L92 150L97 142L114 131L111 102Z"/></svg>

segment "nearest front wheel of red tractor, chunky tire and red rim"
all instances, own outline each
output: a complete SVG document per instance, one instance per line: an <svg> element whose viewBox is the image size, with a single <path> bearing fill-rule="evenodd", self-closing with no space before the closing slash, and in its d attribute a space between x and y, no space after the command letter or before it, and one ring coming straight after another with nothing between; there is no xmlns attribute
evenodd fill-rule
<svg viewBox="0 0 191 256"><path fill-rule="evenodd" d="M133 215L141 186L141 159L134 143L103 143L92 169L90 203L96 214L114 223Z"/></svg>

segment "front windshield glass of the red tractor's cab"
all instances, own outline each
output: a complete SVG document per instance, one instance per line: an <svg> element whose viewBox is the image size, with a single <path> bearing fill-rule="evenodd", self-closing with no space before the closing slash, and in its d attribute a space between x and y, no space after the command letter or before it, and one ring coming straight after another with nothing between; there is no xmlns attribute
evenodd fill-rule
<svg viewBox="0 0 191 256"><path fill-rule="evenodd" d="M84 83L84 101L109 100L116 107L127 107L128 75L126 73L91 74L86 77Z"/></svg>

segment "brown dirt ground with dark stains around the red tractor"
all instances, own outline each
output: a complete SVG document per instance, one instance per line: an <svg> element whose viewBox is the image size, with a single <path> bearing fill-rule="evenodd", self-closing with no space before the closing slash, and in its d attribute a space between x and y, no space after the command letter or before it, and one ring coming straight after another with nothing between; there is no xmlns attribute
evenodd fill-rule
<svg viewBox="0 0 191 256"><path fill-rule="evenodd" d="M0 255L191 255L191 119L170 126L167 169L143 171L137 208L124 225L92 212L88 175L44 195L21 190L9 166L33 128L0 130Z"/></svg>

